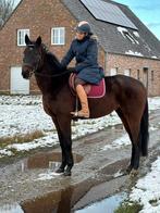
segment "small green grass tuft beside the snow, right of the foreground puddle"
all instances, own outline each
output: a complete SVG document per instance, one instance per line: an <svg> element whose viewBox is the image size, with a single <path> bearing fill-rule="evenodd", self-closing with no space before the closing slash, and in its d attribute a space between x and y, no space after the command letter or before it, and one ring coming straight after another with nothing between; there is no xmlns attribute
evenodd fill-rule
<svg viewBox="0 0 160 213"><path fill-rule="evenodd" d="M138 213L141 209L143 205L139 203L124 202L114 211L114 213Z"/></svg>

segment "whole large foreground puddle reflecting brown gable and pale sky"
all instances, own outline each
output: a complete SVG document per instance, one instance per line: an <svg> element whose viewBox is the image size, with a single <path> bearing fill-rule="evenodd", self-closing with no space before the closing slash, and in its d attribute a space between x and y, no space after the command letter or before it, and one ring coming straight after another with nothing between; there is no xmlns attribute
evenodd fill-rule
<svg viewBox="0 0 160 213"><path fill-rule="evenodd" d="M70 183L70 179L67 179ZM66 184L69 184L66 181ZM106 184L106 183L103 183ZM108 183L110 184L110 181ZM91 189L96 189L94 195L96 200L98 195L104 191L103 185L95 185L91 179L85 179L76 185L71 185L64 189L51 191L35 199L26 200L20 204L0 206L0 213L113 213L120 203L126 198L125 193L116 193L115 196L106 198L99 202L78 210L75 204L85 198L85 195ZM118 186L119 187L119 186ZM107 187L109 192L109 188ZM89 198L91 197L90 193ZM104 193L107 195L107 193ZM104 197L104 196L103 196ZM103 198L102 197L102 198ZM86 199L85 199L86 200ZM86 205L89 202L86 202ZM83 205L85 206L85 205Z"/></svg>

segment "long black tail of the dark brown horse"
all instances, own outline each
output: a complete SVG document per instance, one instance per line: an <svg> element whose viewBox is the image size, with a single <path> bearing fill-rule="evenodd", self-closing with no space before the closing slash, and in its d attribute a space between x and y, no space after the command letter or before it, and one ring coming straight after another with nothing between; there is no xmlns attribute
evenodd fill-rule
<svg viewBox="0 0 160 213"><path fill-rule="evenodd" d="M149 114L148 114L148 100L146 99L146 105L140 122L140 146L141 146L143 156L147 156L148 154L148 140L149 140L148 127L149 127Z"/></svg>

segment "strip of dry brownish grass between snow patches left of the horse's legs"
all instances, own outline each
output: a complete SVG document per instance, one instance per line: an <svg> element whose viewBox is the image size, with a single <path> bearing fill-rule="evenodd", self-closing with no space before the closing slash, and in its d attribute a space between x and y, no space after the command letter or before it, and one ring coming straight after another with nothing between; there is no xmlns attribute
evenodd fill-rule
<svg viewBox="0 0 160 213"><path fill-rule="evenodd" d="M12 143L24 143L33 141L34 139L44 137L45 134L41 130L35 130L26 135L16 135L13 137L0 138L0 148L5 148L8 145Z"/></svg>

